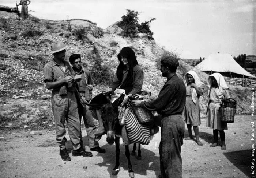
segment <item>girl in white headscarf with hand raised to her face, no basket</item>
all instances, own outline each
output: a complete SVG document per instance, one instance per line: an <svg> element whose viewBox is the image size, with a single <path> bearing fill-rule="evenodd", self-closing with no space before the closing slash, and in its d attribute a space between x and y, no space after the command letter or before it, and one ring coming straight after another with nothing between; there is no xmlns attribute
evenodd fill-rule
<svg viewBox="0 0 256 178"><path fill-rule="evenodd" d="M203 146L203 143L199 140L199 128L201 124L200 120L200 108L199 97L203 95L204 83L200 81L196 72L188 71L184 76L184 83L187 89L186 105L183 110L183 115L188 128L189 137L185 140L193 139L192 126L196 136L196 143L199 146Z"/></svg>

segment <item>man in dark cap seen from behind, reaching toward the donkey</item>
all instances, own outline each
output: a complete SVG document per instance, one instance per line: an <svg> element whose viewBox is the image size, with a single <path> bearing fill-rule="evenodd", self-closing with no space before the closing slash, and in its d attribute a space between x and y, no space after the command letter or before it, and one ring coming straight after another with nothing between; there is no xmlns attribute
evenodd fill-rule
<svg viewBox="0 0 256 178"><path fill-rule="evenodd" d="M166 83L156 99L152 101L132 101L135 106L150 111L157 111L155 123L161 126L159 144L161 178L182 178L181 145L183 144L185 123L182 111L186 102L186 87L176 75L179 62L173 56L161 59L162 76ZM161 123L161 124L160 124Z"/></svg>

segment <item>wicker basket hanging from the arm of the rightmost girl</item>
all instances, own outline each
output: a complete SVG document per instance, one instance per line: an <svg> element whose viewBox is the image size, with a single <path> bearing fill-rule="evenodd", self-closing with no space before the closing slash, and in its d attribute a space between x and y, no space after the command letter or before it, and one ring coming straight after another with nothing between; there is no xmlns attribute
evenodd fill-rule
<svg viewBox="0 0 256 178"><path fill-rule="evenodd" d="M223 102L219 108L221 115L221 122L234 123L234 117L236 114L237 102L230 98L227 102Z"/></svg>

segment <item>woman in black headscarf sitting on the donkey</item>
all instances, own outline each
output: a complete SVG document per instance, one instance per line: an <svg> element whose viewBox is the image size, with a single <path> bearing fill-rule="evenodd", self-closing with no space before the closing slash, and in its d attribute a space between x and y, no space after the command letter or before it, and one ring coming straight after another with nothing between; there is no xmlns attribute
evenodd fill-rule
<svg viewBox="0 0 256 178"><path fill-rule="evenodd" d="M127 103L129 97L139 94L142 89L144 74L135 56L135 52L130 47L124 47L117 55L119 65L116 70L113 82L109 86L109 91L116 88L125 90L125 97L121 106ZM105 91L103 93L106 93ZM102 132L99 130L99 134Z"/></svg>

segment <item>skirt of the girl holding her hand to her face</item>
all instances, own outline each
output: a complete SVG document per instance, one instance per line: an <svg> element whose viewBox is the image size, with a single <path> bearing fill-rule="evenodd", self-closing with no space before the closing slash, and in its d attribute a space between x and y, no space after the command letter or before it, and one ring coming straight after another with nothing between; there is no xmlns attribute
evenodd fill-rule
<svg viewBox="0 0 256 178"><path fill-rule="evenodd" d="M185 118L185 123L192 126L200 126L200 108L199 108L199 98L197 97L196 103L193 102L191 96L186 97L186 105L183 110L183 116Z"/></svg>

